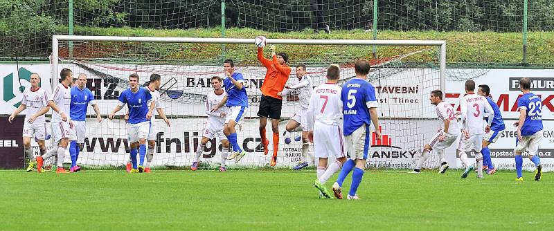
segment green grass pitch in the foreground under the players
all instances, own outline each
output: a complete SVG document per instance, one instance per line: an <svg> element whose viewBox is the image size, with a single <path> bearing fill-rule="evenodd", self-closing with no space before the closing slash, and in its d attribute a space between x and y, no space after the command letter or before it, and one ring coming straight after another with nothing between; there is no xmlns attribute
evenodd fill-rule
<svg viewBox="0 0 554 231"><path fill-rule="evenodd" d="M539 230L554 174L366 171L360 201L319 199L313 170L0 171L0 230ZM328 183L328 188L336 178ZM343 185L346 196L350 176Z"/></svg>

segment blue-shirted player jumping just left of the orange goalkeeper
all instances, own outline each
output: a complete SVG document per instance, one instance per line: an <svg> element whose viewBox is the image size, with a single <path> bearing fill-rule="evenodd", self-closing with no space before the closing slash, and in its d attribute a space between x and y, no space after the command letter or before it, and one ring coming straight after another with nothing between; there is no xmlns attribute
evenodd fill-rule
<svg viewBox="0 0 554 231"><path fill-rule="evenodd" d="M211 111L217 111L223 105L228 107L223 133L229 140L233 152L227 159L235 159L235 163L238 163L247 152L242 150L238 144L235 126L244 118L244 113L248 108L248 95L247 89L244 88L244 77L242 77L242 73L235 72L233 59L226 59L223 62L223 71L225 75L223 84L227 95Z"/></svg>

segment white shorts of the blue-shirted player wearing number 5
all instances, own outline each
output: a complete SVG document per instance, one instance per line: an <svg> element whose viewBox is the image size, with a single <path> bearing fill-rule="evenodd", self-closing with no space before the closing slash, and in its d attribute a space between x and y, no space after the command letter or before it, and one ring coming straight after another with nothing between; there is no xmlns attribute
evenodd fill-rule
<svg viewBox="0 0 554 231"><path fill-rule="evenodd" d="M366 124L361 125L356 131L352 132L348 136L344 136L346 140L346 147L348 148L348 155L352 160L367 160L369 152L369 127Z"/></svg>

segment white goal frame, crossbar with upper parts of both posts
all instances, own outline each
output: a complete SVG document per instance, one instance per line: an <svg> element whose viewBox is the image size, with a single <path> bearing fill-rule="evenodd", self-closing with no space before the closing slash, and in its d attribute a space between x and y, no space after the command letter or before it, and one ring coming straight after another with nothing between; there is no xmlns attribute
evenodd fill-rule
<svg viewBox="0 0 554 231"><path fill-rule="evenodd" d="M125 37L125 36L52 36L52 82L57 82L58 42L59 41L132 41L157 43L197 43L197 44L254 44L256 39L233 38L193 38L193 37ZM379 46L439 46L438 61L440 90L446 90L446 41L445 40L371 40L371 39L267 39L267 44L297 45L379 45ZM52 84L54 89L55 84Z"/></svg>

